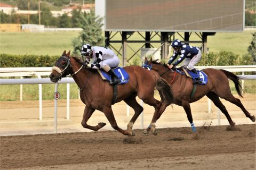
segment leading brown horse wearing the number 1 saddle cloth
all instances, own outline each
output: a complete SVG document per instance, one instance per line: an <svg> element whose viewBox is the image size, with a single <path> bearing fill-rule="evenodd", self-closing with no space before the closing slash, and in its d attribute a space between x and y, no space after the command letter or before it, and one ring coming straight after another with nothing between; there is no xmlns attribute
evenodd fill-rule
<svg viewBox="0 0 256 170"><path fill-rule="evenodd" d="M103 81L97 70L84 68L82 61L78 57L70 57L70 51L66 54L66 50L62 56L57 60L55 66L52 68L50 79L52 82L58 82L62 77L71 75L78 88L80 89L80 96L83 103L86 105L82 125L93 131L98 131L106 125L106 123L99 123L96 126L87 124L87 121L97 109L105 114L111 126L123 133L124 135L135 135L132 131L132 126L137 120L140 113L143 111L135 97L138 96L144 103L154 106L154 115L161 115L167 105L172 101L172 91L168 84L159 77L156 72L150 72L140 66L127 66L124 70L130 75L129 82L117 86L118 95L116 102L124 100L127 105L134 109L134 115L127 130L118 127L112 108L111 101L113 99L113 86L110 86L107 81ZM154 98L154 88L157 88L161 95L162 101ZM151 123L154 132L154 123Z"/></svg>

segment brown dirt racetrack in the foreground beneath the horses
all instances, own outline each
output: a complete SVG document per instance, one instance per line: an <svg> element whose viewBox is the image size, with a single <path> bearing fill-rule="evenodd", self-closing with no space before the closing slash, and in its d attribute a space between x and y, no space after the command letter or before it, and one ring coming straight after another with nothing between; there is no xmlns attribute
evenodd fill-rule
<svg viewBox="0 0 256 170"><path fill-rule="evenodd" d="M1 137L1 169L255 169L255 124Z"/></svg>

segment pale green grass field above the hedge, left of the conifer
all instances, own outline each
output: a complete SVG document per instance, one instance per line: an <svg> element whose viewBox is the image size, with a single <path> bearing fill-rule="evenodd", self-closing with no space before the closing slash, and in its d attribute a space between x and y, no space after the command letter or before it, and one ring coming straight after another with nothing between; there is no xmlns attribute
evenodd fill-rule
<svg viewBox="0 0 256 170"><path fill-rule="evenodd" d="M0 33L0 51L6 54L61 55L73 49L71 41L78 32Z"/></svg>

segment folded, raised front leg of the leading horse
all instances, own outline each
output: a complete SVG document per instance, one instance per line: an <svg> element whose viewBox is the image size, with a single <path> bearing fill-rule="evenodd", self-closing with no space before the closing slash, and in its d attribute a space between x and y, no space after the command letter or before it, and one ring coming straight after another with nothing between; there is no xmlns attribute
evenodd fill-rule
<svg viewBox="0 0 256 170"><path fill-rule="evenodd" d="M82 126L83 126L84 128L87 128L87 129L90 129L90 130L93 130L93 131L98 131L98 130L101 129L103 126L105 126L106 123L100 122L100 123L98 123L98 125L96 125L96 126L90 126L90 125L88 125L88 124L87 124L87 121L89 120L89 118L91 117L91 115L93 114L94 111L95 111L94 108L85 106L85 108L84 108L83 120L82 120L81 124L82 124Z"/></svg>

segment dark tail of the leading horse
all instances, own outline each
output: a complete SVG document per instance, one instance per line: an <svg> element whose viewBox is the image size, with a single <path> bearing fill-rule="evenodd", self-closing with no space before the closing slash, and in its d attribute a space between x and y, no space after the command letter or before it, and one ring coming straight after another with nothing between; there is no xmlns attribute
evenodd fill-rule
<svg viewBox="0 0 256 170"><path fill-rule="evenodd" d="M161 77L157 79L156 89L159 92L163 103L170 105L173 101L173 94L169 84Z"/></svg>

